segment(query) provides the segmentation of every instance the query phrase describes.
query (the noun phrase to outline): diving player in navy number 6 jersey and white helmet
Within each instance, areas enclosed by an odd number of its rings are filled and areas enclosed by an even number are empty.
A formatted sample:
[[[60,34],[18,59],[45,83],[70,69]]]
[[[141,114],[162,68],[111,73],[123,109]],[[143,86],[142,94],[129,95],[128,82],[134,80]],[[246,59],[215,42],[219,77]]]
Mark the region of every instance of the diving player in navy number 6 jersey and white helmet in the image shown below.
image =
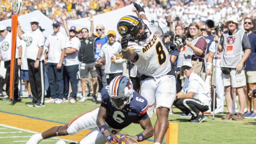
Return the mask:
[[[32,135],[26,144],[37,144],[43,139],[74,135],[82,130],[94,128],[82,138],[79,144],[115,144],[118,134],[131,123],[139,123],[143,128],[133,138],[142,141],[153,136],[153,127],[147,114],[148,102],[133,90],[132,81],[126,76],[117,76],[109,86],[101,90],[102,103],[99,108],[84,113],[65,126],[56,126],[43,133]],[[59,140],[59,143],[65,143]],[[59,144],[58,143],[58,144]]]

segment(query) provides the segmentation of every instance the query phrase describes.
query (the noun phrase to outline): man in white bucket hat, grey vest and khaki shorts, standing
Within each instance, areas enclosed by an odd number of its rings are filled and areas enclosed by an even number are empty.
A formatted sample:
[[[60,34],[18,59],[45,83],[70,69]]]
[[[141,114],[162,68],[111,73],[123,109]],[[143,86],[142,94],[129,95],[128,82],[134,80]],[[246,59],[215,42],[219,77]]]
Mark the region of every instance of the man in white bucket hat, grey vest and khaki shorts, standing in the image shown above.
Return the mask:
[[[235,16],[229,16],[226,20],[228,31],[225,31],[218,43],[218,51],[222,53],[220,66],[223,73],[223,84],[228,113],[222,119],[243,120],[245,108],[245,93],[243,86],[246,85],[244,62],[251,52],[250,41],[247,32],[238,29],[239,22]],[[215,36],[216,39],[218,36]],[[215,39],[215,38],[214,38]],[[243,51],[244,54],[243,54]],[[233,117],[233,97],[230,94],[231,86],[236,88],[239,97],[239,113]]]

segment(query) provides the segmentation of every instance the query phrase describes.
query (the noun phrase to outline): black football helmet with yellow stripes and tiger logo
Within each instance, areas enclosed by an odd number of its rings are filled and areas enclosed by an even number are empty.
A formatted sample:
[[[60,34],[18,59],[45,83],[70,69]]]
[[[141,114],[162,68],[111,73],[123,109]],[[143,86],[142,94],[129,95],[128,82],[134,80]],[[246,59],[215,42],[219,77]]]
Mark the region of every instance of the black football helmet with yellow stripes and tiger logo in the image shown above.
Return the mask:
[[[123,37],[127,34],[132,35],[133,39],[144,40],[147,38],[147,33],[145,30],[148,27],[142,21],[142,19],[135,16],[124,16],[117,23],[118,33]],[[143,32],[140,31],[143,29]]]

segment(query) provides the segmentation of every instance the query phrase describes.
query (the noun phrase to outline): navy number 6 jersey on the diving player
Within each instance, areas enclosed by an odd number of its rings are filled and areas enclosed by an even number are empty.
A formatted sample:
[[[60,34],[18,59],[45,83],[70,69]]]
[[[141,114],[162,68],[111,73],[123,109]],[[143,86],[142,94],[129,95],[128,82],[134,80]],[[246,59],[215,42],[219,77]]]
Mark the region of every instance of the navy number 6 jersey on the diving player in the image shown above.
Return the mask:
[[[138,123],[138,120],[148,117],[148,101],[133,91],[133,98],[129,105],[124,106],[122,110],[112,106],[108,96],[108,86],[101,90],[102,103],[101,106],[109,110],[108,116],[105,119],[106,123],[115,129],[122,129],[129,126],[131,123]]]

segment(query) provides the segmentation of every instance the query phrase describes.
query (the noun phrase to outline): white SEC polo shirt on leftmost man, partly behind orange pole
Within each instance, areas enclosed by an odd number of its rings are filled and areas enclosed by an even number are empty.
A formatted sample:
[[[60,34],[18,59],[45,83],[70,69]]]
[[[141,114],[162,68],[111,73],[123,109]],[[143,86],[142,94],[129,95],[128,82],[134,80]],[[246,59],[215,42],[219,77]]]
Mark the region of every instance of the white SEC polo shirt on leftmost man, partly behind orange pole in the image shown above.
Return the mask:
[[[12,34],[7,33],[6,37],[0,37],[0,53],[1,60],[8,61],[11,60],[11,46],[12,46]],[[18,58],[18,47],[21,46],[20,38],[16,38],[16,52],[15,58]]]

